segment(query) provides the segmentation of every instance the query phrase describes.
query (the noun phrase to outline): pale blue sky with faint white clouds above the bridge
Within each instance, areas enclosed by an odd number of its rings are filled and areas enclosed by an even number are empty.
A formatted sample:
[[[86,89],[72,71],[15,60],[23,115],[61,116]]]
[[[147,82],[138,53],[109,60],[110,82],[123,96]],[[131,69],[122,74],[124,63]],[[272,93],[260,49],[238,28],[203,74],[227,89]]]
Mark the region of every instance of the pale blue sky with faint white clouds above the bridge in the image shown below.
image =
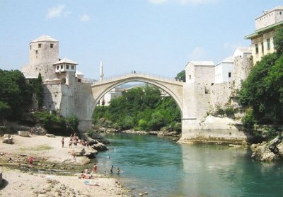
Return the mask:
[[[28,64],[29,43],[59,40],[59,57],[89,79],[144,72],[175,77],[187,62],[232,56],[250,46],[262,11],[283,0],[0,0],[0,69]]]

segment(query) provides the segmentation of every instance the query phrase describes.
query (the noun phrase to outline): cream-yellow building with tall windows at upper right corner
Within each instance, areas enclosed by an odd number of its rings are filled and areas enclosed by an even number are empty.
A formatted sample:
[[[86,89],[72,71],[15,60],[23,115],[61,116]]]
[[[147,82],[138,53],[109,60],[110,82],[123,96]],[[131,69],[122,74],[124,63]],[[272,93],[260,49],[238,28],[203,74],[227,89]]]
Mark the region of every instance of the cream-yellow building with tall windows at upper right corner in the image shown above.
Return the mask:
[[[283,24],[283,6],[271,11],[263,11],[262,16],[255,18],[255,32],[246,35],[251,40],[253,64],[259,62],[264,55],[275,52],[275,28]]]

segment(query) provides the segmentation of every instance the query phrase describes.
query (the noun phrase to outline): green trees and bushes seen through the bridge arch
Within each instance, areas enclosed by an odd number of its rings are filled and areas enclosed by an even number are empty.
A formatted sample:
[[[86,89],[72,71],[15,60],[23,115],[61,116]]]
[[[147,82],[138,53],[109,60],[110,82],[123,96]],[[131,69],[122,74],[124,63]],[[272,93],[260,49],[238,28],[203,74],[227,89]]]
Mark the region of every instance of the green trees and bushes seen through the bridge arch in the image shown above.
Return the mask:
[[[171,98],[161,99],[156,86],[146,85],[125,91],[112,99],[110,106],[98,106],[93,124],[106,118],[117,129],[158,130],[172,122],[180,122],[180,110]]]

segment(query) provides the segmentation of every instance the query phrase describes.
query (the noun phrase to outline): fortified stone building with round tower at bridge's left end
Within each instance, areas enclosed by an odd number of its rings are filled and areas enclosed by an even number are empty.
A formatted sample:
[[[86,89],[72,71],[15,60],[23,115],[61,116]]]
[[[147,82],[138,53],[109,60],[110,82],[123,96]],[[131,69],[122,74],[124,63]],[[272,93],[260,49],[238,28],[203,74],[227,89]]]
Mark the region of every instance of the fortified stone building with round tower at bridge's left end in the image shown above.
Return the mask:
[[[47,111],[56,111],[64,117],[76,115],[79,130],[90,128],[87,113],[94,103],[91,95],[92,80],[83,79],[77,63],[67,58],[59,59],[59,41],[42,35],[30,42],[28,65],[22,69],[25,78],[42,75],[43,105]]]

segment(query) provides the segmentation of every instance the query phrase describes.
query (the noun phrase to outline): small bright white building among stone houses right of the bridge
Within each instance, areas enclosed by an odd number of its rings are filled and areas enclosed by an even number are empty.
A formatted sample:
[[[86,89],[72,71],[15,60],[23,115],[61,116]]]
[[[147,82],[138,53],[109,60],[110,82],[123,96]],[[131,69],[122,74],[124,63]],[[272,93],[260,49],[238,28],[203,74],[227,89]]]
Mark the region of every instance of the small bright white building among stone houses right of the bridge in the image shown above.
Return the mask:
[[[232,73],[234,69],[234,58],[227,57],[215,67],[215,84],[231,82],[233,80]]]

